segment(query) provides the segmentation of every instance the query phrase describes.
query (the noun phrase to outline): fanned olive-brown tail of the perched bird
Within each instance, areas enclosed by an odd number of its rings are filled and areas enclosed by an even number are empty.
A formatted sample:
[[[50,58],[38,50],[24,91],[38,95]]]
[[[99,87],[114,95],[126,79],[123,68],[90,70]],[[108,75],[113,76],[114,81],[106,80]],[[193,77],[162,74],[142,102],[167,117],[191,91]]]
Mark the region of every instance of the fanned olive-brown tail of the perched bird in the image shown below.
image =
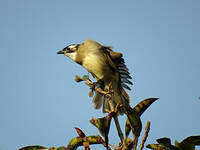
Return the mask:
[[[114,92],[111,94],[111,97],[107,97],[98,92],[95,92],[95,96],[93,98],[94,108],[99,109],[103,105],[103,113],[106,113],[115,111],[117,105],[129,105],[129,95],[122,87],[118,90],[113,90]],[[119,114],[124,114],[123,109],[119,110]]]

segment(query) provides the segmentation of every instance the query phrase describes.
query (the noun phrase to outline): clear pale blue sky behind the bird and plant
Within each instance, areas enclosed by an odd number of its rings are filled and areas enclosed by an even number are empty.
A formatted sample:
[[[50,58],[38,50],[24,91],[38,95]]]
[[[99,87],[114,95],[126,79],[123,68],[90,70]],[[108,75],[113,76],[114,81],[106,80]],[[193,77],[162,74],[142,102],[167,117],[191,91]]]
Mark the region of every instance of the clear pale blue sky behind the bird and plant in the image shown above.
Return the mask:
[[[77,136],[74,127],[98,133],[89,120],[103,114],[93,109],[88,87],[74,81],[87,71],[56,55],[88,38],[124,54],[135,83],[132,106],[160,97],[142,116],[143,126],[151,121],[146,144],[200,135],[200,1],[6,0],[0,1],[1,150],[67,145]],[[114,122],[110,137],[117,145]]]

